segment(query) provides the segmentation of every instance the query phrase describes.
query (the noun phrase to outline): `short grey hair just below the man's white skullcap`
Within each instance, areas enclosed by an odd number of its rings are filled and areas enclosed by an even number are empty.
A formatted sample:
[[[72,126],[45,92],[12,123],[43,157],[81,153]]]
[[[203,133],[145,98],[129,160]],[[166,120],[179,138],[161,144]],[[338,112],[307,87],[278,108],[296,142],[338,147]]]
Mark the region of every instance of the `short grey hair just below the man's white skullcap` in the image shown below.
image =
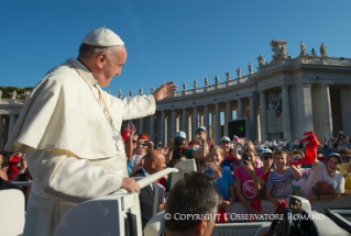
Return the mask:
[[[122,46],[101,47],[88,44],[80,44],[78,58],[91,59],[98,55],[106,53],[109,58],[121,50]]]

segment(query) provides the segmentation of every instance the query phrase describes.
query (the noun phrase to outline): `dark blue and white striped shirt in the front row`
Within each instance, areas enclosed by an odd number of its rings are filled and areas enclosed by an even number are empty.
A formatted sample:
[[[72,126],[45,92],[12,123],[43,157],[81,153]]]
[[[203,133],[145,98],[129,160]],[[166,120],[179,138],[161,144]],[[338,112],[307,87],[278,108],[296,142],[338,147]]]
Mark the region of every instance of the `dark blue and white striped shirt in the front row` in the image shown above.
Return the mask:
[[[283,175],[279,175],[274,170],[268,176],[266,189],[272,189],[272,195],[275,199],[287,198],[294,193],[292,182],[292,168],[287,168]]]

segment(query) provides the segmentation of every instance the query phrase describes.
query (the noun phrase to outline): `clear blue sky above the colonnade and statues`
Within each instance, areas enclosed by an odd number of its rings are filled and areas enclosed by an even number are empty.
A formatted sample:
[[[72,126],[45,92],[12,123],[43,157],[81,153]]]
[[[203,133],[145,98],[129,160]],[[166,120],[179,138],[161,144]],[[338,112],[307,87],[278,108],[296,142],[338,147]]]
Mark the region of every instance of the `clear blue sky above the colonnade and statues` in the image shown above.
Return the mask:
[[[226,71],[254,71],[261,53],[271,61],[272,38],[287,41],[292,57],[304,41],[329,56],[351,57],[349,0],[0,0],[0,86],[31,87],[45,72],[77,56],[94,29],[114,31],[124,41],[128,60],[107,89],[123,95],[140,87],[150,92],[164,81],[182,90],[195,79],[215,82]]]

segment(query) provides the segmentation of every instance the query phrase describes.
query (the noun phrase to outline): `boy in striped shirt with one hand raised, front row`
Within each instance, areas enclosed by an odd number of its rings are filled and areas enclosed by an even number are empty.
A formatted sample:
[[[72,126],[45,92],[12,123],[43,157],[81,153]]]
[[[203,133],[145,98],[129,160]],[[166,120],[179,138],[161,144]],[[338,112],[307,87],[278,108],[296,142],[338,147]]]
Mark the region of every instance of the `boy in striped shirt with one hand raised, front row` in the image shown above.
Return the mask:
[[[276,206],[282,205],[282,199],[294,194],[292,181],[293,178],[301,178],[301,172],[295,167],[286,167],[293,160],[286,162],[286,153],[277,150],[273,155],[276,170],[270,173],[266,183],[265,198]]]

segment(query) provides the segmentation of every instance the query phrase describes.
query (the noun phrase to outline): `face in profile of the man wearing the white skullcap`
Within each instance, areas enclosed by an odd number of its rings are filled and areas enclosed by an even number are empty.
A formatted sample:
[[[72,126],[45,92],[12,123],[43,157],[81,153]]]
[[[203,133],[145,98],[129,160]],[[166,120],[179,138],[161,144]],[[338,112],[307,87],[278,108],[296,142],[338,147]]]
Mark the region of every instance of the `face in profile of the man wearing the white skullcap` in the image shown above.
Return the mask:
[[[118,53],[106,58],[106,61],[102,67],[102,75],[96,78],[100,87],[108,87],[112,80],[113,76],[120,76],[122,72],[122,66],[127,60],[127,50],[122,46],[122,49],[119,49]]]

